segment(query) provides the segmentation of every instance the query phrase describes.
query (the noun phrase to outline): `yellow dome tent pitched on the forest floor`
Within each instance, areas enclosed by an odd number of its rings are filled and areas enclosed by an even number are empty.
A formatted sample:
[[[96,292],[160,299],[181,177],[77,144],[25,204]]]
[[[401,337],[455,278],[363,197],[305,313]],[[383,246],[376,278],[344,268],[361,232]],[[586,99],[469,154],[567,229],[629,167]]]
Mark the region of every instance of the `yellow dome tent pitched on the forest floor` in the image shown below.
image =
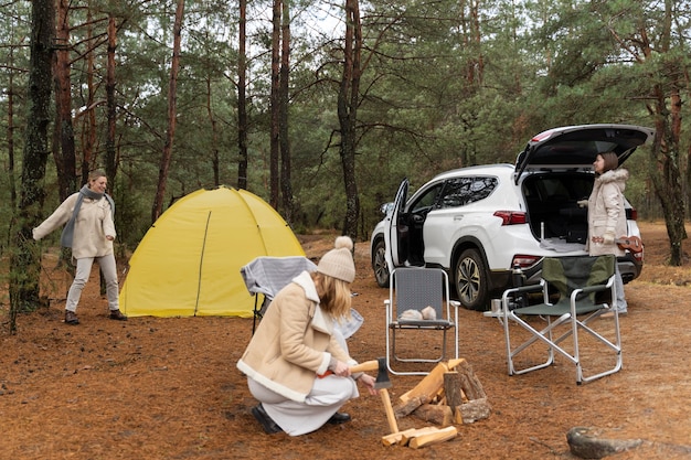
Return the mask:
[[[176,202],[129,260],[120,291],[128,317],[251,318],[240,268],[259,256],[305,256],[283,217],[261,197],[221,186]]]

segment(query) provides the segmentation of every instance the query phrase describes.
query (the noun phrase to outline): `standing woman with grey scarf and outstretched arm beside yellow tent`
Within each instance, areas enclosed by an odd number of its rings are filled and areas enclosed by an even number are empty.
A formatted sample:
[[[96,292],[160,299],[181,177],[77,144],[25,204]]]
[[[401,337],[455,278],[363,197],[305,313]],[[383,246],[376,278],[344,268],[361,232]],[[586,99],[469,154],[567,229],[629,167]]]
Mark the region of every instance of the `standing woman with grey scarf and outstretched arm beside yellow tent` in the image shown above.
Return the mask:
[[[117,267],[113,254],[113,240],[116,236],[113,223],[115,204],[106,194],[107,185],[108,179],[103,171],[92,171],[88,183],[70,195],[49,218],[33,229],[33,238],[39,240],[66,224],[60,243],[63,247],[72,248],[72,258],[76,259],[76,272],[67,293],[65,324],[79,323],[76,315],[77,303],[92,272],[94,259],[98,261],[106,280],[109,318],[127,321],[118,304]]]

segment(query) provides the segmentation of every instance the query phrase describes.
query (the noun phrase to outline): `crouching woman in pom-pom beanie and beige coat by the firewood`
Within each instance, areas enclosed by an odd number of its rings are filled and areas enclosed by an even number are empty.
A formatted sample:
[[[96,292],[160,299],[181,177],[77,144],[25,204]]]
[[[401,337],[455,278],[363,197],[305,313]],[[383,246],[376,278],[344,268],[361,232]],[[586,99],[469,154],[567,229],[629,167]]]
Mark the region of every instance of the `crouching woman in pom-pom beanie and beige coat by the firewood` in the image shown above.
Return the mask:
[[[334,329],[334,320],[350,314],[352,248],[349,237],[337,238],[317,271],[304,271],[281,289],[237,362],[259,400],[252,414],[267,434],[299,436],[349,421],[338,410],[359,396],[355,381],[376,394],[372,376],[351,375],[357,362]]]

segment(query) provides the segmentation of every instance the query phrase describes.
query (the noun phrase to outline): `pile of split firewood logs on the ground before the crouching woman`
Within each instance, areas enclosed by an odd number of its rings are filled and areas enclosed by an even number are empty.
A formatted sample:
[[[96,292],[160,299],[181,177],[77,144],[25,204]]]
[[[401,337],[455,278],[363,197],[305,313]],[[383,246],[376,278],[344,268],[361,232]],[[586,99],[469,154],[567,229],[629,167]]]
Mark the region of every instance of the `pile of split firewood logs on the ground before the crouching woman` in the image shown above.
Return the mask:
[[[458,359],[437,364],[413,389],[398,397],[392,410],[396,419],[412,415],[433,426],[398,431],[396,424],[390,424],[395,432],[384,436],[382,443],[417,449],[454,439],[458,435],[456,425],[488,418],[491,406],[470,364]]]

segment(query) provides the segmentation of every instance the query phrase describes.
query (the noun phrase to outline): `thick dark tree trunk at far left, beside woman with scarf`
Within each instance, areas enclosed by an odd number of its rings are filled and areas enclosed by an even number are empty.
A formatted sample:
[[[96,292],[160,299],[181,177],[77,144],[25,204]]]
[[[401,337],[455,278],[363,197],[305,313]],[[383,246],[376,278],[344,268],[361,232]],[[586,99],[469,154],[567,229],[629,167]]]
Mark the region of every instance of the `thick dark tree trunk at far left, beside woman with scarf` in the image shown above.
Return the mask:
[[[39,304],[41,257],[32,243],[31,229],[41,221],[45,199],[41,186],[47,162],[47,130],[52,85],[53,0],[31,2],[31,58],[29,64],[28,117],[24,131],[21,196],[18,229],[10,256],[10,332],[17,328],[17,313]]]

